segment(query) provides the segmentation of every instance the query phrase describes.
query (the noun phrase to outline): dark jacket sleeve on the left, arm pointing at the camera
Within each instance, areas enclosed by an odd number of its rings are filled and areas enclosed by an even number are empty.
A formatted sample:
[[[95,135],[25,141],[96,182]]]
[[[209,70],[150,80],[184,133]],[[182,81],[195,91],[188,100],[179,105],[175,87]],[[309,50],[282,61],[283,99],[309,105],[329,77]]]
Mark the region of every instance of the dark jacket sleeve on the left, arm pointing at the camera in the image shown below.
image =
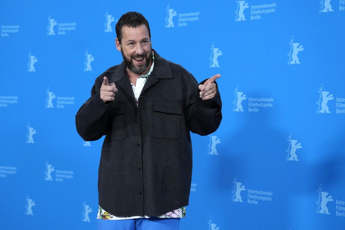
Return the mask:
[[[76,114],[77,132],[85,141],[95,141],[107,133],[111,103],[100,98],[103,75],[95,80],[91,97],[80,107]]]

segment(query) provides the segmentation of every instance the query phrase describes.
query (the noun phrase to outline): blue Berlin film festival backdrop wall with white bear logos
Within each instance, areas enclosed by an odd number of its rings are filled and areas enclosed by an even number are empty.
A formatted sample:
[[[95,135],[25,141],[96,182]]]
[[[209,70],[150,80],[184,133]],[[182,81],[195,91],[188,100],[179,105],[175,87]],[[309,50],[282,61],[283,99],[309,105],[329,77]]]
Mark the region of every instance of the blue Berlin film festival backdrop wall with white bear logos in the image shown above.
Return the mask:
[[[223,120],[192,134],[181,229],[344,229],[345,1],[2,1],[0,229],[96,229],[102,140],[75,114],[122,61],[115,24],[138,11],[152,48],[198,81]]]

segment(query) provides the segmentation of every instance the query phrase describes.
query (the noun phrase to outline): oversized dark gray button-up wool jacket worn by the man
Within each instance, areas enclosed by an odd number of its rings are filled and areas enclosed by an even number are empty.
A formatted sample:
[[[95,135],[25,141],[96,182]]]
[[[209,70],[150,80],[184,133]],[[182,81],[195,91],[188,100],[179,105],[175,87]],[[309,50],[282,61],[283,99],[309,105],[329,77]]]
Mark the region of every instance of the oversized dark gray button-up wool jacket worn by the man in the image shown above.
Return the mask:
[[[100,99],[103,77],[118,89],[115,101]],[[207,135],[221,121],[219,91],[203,101],[198,83],[183,67],[160,57],[137,107],[125,63],[96,80],[76,115],[85,141],[106,135],[98,171],[99,205],[115,216],[158,216],[188,205],[190,132]]]

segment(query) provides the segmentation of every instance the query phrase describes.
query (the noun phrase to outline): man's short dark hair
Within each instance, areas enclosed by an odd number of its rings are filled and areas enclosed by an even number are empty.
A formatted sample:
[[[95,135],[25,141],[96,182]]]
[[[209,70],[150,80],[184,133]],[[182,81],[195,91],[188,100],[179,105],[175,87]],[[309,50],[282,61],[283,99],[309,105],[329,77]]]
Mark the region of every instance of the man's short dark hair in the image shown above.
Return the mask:
[[[116,26],[115,26],[117,40],[121,43],[122,27],[128,26],[131,28],[137,28],[138,26],[141,26],[141,25],[145,25],[147,27],[147,30],[149,31],[149,37],[151,39],[149,23],[141,13],[131,11],[131,12],[122,14],[121,18],[119,19],[119,21],[116,23]]]

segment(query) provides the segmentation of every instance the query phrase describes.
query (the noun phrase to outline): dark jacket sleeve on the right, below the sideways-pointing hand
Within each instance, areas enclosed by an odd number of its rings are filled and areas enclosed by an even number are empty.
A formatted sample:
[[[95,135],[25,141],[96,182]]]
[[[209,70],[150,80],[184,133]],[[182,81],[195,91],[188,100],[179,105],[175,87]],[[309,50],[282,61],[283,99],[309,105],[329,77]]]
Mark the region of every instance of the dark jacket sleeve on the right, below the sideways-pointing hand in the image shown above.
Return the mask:
[[[186,125],[191,132],[206,136],[218,129],[222,118],[218,85],[216,96],[209,100],[203,100],[200,98],[199,84],[192,74],[189,73],[189,76],[185,90]]]

